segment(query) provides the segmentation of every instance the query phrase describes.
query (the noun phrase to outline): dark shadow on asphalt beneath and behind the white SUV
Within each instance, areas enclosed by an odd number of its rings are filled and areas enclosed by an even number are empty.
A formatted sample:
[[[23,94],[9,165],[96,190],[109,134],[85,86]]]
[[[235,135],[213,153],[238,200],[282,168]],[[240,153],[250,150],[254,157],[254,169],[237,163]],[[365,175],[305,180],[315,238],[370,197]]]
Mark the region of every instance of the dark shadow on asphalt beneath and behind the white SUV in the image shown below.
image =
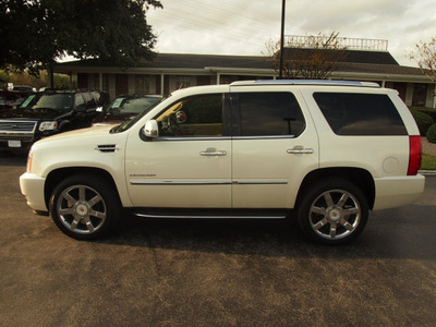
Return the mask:
[[[414,206],[407,208],[416,210]],[[420,206],[420,210],[432,213],[435,207]],[[294,219],[158,220],[130,216],[124,217],[122,226],[112,237],[98,242],[271,257],[436,259],[432,250],[434,245],[431,245],[435,241],[433,234],[427,232],[427,225],[435,230],[435,222],[428,219],[431,216],[423,215],[422,218],[413,218],[413,221],[401,217],[407,217],[401,209],[385,210],[383,216],[373,215],[356,240],[339,246],[308,241]]]

